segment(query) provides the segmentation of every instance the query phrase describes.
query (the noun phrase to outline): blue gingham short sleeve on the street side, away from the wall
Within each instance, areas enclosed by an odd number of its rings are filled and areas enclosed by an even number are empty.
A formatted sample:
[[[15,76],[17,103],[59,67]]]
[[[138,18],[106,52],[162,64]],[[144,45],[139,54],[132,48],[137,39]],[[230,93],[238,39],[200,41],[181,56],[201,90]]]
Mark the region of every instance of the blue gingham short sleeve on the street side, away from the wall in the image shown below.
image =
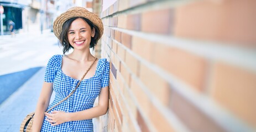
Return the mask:
[[[49,59],[46,66],[44,81],[47,83],[53,83],[56,73],[61,68],[62,56],[60,54],[54,55]]]

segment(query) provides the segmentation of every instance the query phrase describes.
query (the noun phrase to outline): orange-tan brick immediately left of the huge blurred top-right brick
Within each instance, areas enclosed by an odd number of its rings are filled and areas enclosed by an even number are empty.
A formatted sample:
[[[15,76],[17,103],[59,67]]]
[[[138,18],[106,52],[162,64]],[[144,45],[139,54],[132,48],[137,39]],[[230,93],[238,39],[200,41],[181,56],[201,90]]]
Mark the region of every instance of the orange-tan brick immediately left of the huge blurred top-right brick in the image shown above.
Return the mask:
[[[142,13],[142,31],[154,32],[156,34],[169,34],[171,21],[171,10],[152,10]]]

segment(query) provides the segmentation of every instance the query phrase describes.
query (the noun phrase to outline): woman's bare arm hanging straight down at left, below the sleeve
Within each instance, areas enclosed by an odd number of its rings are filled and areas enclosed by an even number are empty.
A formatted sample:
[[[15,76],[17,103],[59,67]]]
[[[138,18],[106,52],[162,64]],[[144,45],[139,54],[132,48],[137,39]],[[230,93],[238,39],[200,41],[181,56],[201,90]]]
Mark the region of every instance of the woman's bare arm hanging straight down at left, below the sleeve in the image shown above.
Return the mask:
[[[38,103],[35,109],[34,121],[32,126],[33,132],[41,130],[41,126],[44,121],[44,112],[49,106],[52,93],[53,83],[46,83],[44,81],[43,87],[41,89],[41,94],[39,96]]]

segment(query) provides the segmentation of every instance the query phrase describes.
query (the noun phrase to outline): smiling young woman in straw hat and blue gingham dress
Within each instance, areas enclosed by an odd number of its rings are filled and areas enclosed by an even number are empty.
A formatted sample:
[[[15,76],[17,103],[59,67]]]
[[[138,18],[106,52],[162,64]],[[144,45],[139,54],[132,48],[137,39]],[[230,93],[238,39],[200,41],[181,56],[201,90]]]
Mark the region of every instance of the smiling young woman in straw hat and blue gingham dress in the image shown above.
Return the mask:
[[[54,34],[63,46],[64,55],[55,55],[48,62],[32,129],[93,131],[92,118],[102,116],[108,108],[109,63],[90,53],[103,34],[102,21],[85,8],[74,7],[56,18]],[[65,55],[71,48],[74,50]],[[90,65],[74,94],[46,113],[76,88]],[[55,98],[49,106],[53,90]],[[98,106],[93,107],[97,96]]]

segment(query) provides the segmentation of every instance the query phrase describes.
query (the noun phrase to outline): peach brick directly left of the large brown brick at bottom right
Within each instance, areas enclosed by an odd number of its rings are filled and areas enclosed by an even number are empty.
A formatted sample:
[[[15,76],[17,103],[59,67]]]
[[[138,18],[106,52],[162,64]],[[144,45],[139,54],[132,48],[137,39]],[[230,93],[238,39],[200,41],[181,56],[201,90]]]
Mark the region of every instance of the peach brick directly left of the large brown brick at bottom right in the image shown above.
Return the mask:
[[[139,78],[148,87],[149,91],[164,105],[168,104],[170,89],[168,87],[168,83],[163,78],[153,70],[149,69],[145,64],[140,65]]]

